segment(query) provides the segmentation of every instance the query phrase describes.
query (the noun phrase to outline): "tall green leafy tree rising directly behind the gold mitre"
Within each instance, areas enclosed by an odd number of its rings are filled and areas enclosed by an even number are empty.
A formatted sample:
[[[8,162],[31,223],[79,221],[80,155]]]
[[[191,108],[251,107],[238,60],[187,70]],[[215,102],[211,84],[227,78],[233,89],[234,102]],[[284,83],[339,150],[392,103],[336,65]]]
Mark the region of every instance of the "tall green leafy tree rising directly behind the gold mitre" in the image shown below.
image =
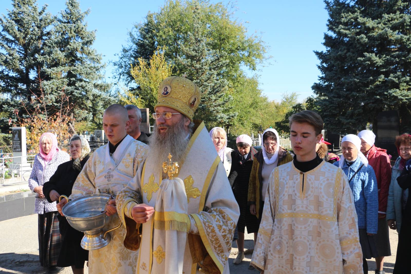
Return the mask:
[[[164,57],[173,65],[173,75],[186,76],[201,88],[202,104],[196,118],[205,120],[207,127],[233,124],[238,109],[234,101],[240,100],[242,89],[233,90],[245,77],[242,68],[255,70],[267,59],[261,37],[247,35],[245,26],[233,19],[222,3],[169,0],[158,12],[148,13],[143,23],[134,25],[129,44],[114,62],[118,77],[130,92],[141,95],[138,83],[133,83],[130,63],[136,67],[139,58],[148,62],[157,47],[165,48]],[[261,93],[258,85],[254,92]]]

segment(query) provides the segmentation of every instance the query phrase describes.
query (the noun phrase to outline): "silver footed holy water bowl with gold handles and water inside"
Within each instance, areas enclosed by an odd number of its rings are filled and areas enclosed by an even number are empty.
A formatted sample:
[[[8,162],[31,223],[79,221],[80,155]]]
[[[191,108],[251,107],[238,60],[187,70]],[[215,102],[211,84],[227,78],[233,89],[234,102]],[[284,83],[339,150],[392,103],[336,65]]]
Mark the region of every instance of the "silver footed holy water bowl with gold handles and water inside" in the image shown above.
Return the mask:
[[[105,207],[111,196],[109,194],[90,194],[69,201],[63,208],[62,213],[70,226],[84,232],[81,247],[85,250],[100,249],[110,243],[108,234],[121,226],[107,230],[103,228],[109,222]]]

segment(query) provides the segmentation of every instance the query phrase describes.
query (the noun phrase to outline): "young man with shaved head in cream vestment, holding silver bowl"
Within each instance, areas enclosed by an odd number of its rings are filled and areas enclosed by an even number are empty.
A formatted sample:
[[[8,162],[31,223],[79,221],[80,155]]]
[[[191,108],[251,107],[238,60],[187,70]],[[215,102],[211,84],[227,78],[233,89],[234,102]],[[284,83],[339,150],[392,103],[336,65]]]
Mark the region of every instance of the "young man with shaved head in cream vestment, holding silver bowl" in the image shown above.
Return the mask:
[[[92,193],[109,193],[115,196],[136,175],[140,163],[147,154],[148,146],[127,135],[128,125],[127,110],[124,106],[114,104],[104,111],[103,128],[109,143],[99,147],[90,156],[74,182],[70,200]],[[111,200],[110,205],[106,207],[107,215],[112,216],[104,230],[115,228],[120,224],[114,201]],[[67,200],[63,199],[59,204],[60,208],[65,203]],[[138,253],[123,246],[124,233],[125,229],[121,226],[109,233],[111,242],[107,246],[90,250],[88,256],[90,274],[136,271]]]

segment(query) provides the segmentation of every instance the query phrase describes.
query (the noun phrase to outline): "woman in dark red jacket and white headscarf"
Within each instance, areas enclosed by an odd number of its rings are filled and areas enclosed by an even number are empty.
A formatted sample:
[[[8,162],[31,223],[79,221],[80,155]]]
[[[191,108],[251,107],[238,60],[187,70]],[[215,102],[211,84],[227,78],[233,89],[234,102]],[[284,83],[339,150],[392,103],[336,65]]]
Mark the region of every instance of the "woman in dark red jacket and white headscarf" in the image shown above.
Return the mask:
[[[387,150],[374,145],[375,135],[370,130],[360,131],[361,152],[367,157],[377,178],[378,185],[378,232],[374,235],[378,257],[375,258],[376,274],[383,274],[384,257],[391,256],[390,236],[386,220],[388,189],[391,182],[391,164]]]

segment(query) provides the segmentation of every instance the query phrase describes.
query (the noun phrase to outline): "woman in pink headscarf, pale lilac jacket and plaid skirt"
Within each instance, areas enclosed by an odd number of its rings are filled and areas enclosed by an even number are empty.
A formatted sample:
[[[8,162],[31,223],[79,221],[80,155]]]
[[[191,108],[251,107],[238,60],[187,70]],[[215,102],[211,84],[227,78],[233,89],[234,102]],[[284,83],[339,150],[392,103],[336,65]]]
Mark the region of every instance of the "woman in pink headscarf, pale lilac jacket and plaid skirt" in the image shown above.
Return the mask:
[[[40,137],[40,152],[36,155],[28,186],[37,193],[35,213],[39,214],[39,259],[40,265],[48,267],[49,273],[57,273],[56,266],[60,252],[60,230],[56,203],[49,203],[43,193],[43,184],[55,173],[57,167],[69,161],[70,157],[57,146],[57,138],[50,132]]]

